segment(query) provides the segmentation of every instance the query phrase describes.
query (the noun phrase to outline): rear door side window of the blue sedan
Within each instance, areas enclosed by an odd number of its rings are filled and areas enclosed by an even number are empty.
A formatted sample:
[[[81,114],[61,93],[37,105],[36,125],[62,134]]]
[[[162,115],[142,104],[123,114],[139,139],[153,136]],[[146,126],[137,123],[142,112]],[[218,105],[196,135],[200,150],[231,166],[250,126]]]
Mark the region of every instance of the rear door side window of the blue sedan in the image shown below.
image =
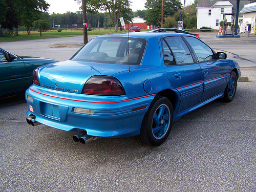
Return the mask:
[[[165,37],[164,40],[172,50],[178,65],[194,63],[193,57],[180,36]]]

